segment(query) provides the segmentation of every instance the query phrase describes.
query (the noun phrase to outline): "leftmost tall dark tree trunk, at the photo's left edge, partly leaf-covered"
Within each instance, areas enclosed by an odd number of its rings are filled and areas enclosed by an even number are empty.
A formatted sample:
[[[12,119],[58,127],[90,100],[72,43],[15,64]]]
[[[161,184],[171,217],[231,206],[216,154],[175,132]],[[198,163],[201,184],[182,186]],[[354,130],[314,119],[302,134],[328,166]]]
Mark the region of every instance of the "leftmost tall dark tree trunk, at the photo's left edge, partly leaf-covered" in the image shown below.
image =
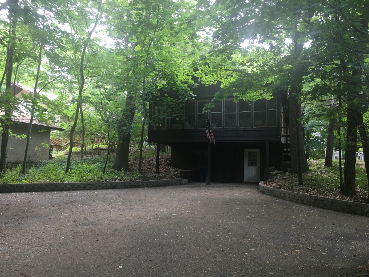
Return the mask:
[[[17,21],[13,20],[11,24],[11,39],[9,45],[8,57],[9,61],[6,69],[6,85],[5,85],[5,93],[11,94],[10,86],[11,86],[11,76],[13,74],[13,54],[14,54],[14,43],[15,43],[15,28],[17,27]],[[8,103],[10,105],[10,103]],[[1,148],[0,148],[0,173],[5,170],[6,166],[6,157],[7,157],[7,148],[8,148],[8,139],[9,139],[9,129],[10,125],[7,124],[11,121],[11,108],[8,106],[5,109],[4,121],[1,122],[1,126],[3,127],[3,133],[1,133]]]

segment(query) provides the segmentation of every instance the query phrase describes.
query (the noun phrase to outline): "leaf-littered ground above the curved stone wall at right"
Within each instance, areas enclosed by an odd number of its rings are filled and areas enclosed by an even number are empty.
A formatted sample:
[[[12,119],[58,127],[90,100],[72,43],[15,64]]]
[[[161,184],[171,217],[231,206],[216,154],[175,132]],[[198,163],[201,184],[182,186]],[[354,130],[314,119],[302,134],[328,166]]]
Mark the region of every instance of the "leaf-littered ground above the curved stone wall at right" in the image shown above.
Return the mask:
[[[367,203],[368,179],[363,161],[356,161],[356,195],[350,197],[339,193],[338,161],[333,161],[333,167],[325,167],[324,160],[313,160],[308,163],[309,170],[303,174],[303,187],[297,186],[297,174],[283,171],[271,172],[272,177],[264,184],[268,186],[279,185],[288,191]],[[344,160],[342,160],[342,167],[344,167]]]

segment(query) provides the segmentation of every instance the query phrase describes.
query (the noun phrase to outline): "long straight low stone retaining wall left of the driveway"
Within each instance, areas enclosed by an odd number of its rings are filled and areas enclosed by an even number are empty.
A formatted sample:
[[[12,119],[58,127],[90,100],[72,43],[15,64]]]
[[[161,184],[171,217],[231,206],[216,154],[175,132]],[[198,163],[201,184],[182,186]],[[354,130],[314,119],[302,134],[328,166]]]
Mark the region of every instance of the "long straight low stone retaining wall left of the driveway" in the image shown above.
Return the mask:
[[[149,181],[117,181],[117,182],[80,182],[80,183],[37,183],[37,184],[4,184],[0,185],[2,192],[32,192],[32,191],[76,191],[84,189],[117,189],[162,187],[187,184],[187,179],[166,179]]]

